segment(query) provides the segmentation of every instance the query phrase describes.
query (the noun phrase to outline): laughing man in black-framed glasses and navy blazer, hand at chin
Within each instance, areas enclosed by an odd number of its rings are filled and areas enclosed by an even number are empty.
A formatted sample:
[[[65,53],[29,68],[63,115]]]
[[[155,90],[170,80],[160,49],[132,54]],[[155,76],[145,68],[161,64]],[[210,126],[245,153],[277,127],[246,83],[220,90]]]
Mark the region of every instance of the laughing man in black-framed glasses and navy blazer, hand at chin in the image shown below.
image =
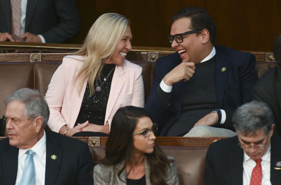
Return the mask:
[[[145,109],[160,136],[234,136],[234,110],[252,100],[258,80],[253,54],[214,46],[216,25],[199,7],[172,17],[168,41],[177,52],[159,58]]]

